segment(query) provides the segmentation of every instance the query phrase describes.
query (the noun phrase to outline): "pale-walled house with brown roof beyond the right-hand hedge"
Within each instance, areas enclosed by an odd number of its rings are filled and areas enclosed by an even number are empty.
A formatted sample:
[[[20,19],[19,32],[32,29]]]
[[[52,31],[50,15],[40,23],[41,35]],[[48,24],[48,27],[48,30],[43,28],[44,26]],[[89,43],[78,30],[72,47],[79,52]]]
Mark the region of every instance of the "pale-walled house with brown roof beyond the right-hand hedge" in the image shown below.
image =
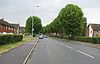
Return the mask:
[[[100,24],[89,24],[87,27],[86,36],[100,37]]]

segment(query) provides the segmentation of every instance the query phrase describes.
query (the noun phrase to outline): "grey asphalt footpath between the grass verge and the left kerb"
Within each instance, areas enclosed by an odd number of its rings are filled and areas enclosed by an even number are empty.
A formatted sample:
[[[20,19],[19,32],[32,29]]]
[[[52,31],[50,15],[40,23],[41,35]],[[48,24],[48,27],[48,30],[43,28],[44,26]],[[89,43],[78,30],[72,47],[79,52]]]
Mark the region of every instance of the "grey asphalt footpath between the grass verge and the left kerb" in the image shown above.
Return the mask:
[[[31,48],[36,44],[36,40],[32,40],[29,43],[0,54],[0,64],[23,64]]]

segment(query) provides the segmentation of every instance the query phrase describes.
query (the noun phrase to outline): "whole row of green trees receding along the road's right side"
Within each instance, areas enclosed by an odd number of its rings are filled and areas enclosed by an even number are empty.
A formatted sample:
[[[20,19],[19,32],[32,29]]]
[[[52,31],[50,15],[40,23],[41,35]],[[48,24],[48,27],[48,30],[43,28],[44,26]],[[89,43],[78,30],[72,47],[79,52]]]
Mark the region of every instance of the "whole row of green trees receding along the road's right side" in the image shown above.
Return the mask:
[[[61,9],[58,16],[46,28],[48,33],[81,36],[85,34],[86,18],[80,7],[68,4]]]

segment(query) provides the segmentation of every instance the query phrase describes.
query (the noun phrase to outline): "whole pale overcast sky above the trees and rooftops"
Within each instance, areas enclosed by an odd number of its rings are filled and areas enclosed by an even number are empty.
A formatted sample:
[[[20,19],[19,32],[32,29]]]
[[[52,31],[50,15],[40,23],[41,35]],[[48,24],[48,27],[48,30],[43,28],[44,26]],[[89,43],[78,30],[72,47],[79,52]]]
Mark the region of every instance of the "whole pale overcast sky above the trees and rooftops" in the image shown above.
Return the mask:
[[[0,18],[25,26],[29,16],[38,16],[46,26],[67,4],[78,5],[88,24],[100,24],[100,0],[0,0]]]

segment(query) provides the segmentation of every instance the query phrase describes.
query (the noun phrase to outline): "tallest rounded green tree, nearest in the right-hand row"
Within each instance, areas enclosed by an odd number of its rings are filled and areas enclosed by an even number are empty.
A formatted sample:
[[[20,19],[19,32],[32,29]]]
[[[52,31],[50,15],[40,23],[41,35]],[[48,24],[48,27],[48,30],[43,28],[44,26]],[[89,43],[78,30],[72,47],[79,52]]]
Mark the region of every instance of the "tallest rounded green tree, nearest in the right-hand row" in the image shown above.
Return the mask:
[[[60,11],[58,17],[62,21],[64,32],[67,35],[82,35],[85,22],[83,21],[84,17],[81,8],[74,4],[68,4]]]

